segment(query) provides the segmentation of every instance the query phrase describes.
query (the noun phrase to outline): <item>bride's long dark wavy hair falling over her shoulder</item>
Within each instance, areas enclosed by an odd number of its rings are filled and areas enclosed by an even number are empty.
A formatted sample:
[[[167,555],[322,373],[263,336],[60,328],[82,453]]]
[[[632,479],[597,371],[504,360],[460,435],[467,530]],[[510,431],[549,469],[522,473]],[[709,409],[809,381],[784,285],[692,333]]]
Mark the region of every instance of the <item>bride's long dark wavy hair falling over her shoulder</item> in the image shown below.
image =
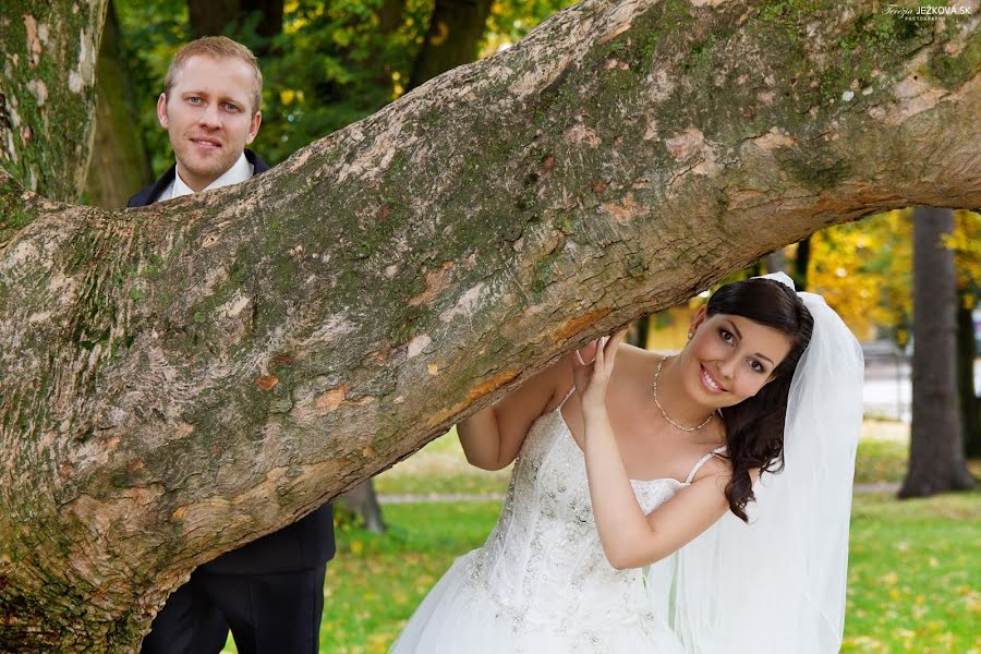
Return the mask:
[[[732,479],[726,486],[729,509],[743,522],[746,506],[755,500],[749,471],[779,472],[784,468],[784,420],[790,380],[801,354],[811,342],[814,318],[790,287],[772,279],[747,279],[728,283],[713,293],[707,315],[728,314],[749,318],[783,331],[790,351],[773,371],[774,379],[738,404],[726,407],[726,456]]]

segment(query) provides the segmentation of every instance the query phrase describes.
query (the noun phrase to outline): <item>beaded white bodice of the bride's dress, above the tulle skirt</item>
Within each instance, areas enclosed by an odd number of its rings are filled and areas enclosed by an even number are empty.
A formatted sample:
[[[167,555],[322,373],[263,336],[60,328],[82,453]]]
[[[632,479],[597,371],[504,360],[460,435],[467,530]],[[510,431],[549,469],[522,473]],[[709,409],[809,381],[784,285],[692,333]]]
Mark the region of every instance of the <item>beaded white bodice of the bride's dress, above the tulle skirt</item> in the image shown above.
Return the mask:
[[[688,485],[674,479],[631,484],[645,513]],[[570,633],[647,616],[642,570],[616,570],[603,552],[585,461],[560,408],[529,429],[500,518],[469,577],[529,627]]]

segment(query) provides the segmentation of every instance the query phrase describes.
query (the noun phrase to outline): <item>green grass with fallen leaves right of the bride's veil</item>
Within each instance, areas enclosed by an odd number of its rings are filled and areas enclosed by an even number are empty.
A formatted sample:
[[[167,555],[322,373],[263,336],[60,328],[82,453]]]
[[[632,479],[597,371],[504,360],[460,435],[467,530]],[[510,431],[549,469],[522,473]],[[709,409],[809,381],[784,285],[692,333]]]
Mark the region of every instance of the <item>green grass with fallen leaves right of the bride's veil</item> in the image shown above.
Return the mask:
[[[981,651],[979,552],[979,492],[856,496],[841,651]]]

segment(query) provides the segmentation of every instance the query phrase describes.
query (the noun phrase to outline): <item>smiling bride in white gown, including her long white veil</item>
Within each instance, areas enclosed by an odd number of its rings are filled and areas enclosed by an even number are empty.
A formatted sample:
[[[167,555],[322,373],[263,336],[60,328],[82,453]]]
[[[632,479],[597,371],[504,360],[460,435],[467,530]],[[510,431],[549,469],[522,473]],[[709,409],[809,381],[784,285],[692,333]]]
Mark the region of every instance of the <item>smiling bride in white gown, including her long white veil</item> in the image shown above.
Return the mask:
[[[457,425],[507,498],[391,652],[837,652],[861,351],[767,277],[677,355],[619,331]]]

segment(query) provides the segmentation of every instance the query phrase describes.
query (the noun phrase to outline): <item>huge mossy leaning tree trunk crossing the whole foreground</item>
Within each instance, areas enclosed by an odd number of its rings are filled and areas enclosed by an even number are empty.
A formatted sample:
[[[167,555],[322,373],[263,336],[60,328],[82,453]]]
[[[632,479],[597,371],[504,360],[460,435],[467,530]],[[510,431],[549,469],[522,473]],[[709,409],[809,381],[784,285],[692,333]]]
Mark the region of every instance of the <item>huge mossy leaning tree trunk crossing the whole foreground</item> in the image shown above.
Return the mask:
[[[50,64],[80,43],[53,26],[101,15],[75,4],[47,10],[47,63],[3,77],[4,107],[36,74],[90,116]],[[141,210],[23,193],[12,166],[0,649],[133,651],[194,567],[570,348],[828,225],[981,207],[977,22],[871,11],[588,0],[261,177]],[[0,49],[24,68],[14,14]],[[84,132],[77,158],[2,147],[71,196]]]

